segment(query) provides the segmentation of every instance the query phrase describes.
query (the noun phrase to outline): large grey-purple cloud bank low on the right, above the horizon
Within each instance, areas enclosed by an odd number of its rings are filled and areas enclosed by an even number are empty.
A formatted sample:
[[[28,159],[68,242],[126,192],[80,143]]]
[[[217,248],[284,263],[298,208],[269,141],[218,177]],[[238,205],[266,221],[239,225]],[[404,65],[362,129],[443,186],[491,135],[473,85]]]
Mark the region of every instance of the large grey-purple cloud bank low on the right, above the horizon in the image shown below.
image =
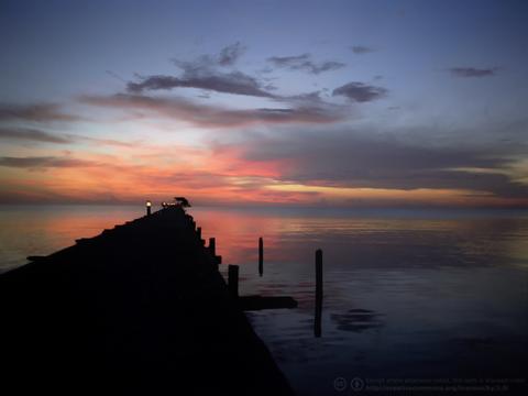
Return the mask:
[[[220,146],[220,150],[224,147]],[[354,130],[288,129],[237,141],[241,161],[278,164],[284,183],[341,188],[460,189],[526,198],[498,147],[424,146]]]

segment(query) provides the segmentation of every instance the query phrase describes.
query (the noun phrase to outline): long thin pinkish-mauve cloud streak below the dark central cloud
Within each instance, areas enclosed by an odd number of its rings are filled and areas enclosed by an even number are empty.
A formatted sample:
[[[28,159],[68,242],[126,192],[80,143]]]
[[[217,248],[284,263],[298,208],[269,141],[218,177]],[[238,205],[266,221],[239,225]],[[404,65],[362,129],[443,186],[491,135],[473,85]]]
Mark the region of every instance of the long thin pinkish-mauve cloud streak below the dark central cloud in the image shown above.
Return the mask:
[[[112,107],[189,122],[202,128],[234,128],[252,124],[332,123],[343,114],[322,107],[299,107],[287,110],[250,109],[229,110],[217,106],[197,105],[184,98],[154,98],[140,95],[85,96],[85,103]]]

